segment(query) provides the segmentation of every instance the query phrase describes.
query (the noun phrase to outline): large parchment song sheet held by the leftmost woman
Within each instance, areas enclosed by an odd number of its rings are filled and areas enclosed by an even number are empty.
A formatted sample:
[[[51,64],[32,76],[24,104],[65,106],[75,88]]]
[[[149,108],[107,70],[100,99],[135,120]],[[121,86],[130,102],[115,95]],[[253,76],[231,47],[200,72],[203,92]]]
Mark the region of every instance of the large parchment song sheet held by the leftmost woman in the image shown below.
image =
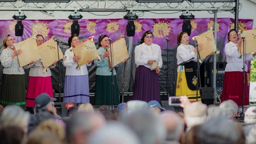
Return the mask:
[[[25,41],[15,44],[15,49],[22,50],[22,53],[17,55],[19,61],[19,67],[28,65],[32,61],[40,59],[39,51],[37,48],[37,42],[35,38],[28,38]]]

